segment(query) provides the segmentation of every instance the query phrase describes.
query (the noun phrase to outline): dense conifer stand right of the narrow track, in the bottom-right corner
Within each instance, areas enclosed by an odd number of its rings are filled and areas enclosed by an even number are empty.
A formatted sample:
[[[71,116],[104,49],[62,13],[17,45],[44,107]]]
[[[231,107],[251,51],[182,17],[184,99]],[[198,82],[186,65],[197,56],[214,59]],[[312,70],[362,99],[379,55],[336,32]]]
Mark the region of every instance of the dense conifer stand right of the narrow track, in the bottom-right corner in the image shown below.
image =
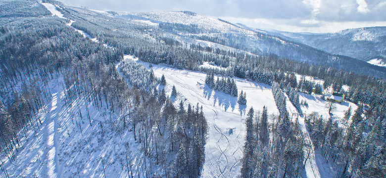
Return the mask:
[[[347,124],[343,128],[331,118],[323,120],[318,113],[309,114],[314,145],[321,150],[327,163],[332,162],[338,168],[338,178],[385,177],[385,121],[378,117],[372,127],[366,128],[363,108],[358,107],[351,119],[350,110],[345,112],[343,119]]]

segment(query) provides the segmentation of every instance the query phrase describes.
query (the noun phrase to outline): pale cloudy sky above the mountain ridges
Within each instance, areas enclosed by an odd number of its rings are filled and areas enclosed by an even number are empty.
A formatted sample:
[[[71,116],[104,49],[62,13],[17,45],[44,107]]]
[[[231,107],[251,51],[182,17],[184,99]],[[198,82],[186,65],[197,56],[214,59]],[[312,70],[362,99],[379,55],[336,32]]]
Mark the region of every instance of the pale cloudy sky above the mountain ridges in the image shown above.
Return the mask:
[[[189,10],[259,29],[337,32],[386,26],[386,0],[60,0],[113,11]]]

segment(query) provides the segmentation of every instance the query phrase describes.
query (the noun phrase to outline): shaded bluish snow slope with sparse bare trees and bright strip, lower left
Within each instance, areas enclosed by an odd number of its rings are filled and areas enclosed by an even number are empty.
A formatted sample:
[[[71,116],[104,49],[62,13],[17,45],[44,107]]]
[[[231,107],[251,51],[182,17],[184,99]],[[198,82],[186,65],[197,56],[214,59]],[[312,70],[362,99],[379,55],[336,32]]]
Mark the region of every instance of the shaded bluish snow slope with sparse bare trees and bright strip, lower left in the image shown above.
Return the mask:
[[[21,140],[24,149],[15,152],[15,161],[1,158],[8,175],[11,178],[92,178],[105,174],[107,178],[125,178],[127,171],[122,170],[122,160],[126,164],[126,154],[132,169],[141,169],[144,160],[148,160],[140,151],[141,145],[135,142],[133,132],[117,133],[108,129],[107,125],[114,124],[110,119],[119,116],[105,107],[95,109],[93,103],[83,97],[71,103],[74,113],[71,116],[70,108],[64,103],[63,85],[61,77],[48,83],[52,94],[38,114],[42,125],[29,126],[27,139]],[[86,117],[88,112],[91,123]],[[144,176],[137,171],[133,174]]]

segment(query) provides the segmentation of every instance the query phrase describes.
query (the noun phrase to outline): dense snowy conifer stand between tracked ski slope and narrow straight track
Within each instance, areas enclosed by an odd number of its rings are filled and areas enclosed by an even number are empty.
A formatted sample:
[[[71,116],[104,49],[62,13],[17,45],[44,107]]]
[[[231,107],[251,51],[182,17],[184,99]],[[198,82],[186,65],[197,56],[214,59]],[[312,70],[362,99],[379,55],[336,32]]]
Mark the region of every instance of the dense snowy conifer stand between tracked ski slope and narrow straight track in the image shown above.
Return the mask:
[[[267,108],[246,118],[246,141],[241,160],[242,178],[291,178],[304,174],[307,146],[298,120],[290,122],[288,112],[272,116],[268,124]]]

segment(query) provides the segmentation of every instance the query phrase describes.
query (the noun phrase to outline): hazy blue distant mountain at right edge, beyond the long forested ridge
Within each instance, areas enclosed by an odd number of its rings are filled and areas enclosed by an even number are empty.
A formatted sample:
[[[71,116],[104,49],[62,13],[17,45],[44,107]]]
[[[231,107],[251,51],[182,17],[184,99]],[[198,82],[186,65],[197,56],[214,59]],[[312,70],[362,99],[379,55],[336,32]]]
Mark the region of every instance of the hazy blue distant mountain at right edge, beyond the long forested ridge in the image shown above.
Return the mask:
[[[291,33],[267,31],[267,33],[305,45],[363,61],[386,59],[386,27],[346,29],[337,33]]]

